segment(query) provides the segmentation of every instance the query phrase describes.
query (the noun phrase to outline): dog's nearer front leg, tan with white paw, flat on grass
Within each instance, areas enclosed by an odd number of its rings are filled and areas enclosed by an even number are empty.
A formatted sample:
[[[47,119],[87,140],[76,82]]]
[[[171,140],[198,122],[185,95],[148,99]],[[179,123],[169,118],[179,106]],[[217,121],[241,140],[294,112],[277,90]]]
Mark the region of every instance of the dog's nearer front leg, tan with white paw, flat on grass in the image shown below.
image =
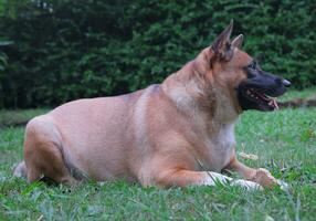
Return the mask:
[[[191,170],[165,170],[158,172],[155,178],[156,185],[162,187],[186,187],[186,186],[215,186],[229,185],[239,186],[246,190],[261,189],[261,186],[247,180],[233,180],[224,175],[212,171],[191,171]]]

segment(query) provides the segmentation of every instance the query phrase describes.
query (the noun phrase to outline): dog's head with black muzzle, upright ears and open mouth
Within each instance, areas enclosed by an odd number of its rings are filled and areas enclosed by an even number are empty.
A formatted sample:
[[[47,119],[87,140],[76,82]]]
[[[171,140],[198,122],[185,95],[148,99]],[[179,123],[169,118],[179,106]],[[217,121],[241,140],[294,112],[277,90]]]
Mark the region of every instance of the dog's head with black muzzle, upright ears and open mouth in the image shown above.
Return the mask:
[[[287,80],[264,72],[257,62],[241,50],[243,35],[230,41],[233,22],[203,50],[200,57],[207,57],[212,78],[230,91],[239,109],[274,110],[274,97],[281,96],[291,85]],[[206,60],[206,59],[204,59]]]

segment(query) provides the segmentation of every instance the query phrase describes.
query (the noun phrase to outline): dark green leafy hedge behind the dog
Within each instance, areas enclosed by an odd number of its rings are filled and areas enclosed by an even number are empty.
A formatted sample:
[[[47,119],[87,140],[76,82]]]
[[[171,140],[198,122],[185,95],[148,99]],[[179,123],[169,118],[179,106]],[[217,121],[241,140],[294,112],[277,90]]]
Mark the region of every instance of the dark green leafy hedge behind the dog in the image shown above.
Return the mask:
[[[263,69],[296,87],[315,85],[315,0],[0,0],[0,40],[13,42],[0,45],[0,107],[159,83],[231,19]]]

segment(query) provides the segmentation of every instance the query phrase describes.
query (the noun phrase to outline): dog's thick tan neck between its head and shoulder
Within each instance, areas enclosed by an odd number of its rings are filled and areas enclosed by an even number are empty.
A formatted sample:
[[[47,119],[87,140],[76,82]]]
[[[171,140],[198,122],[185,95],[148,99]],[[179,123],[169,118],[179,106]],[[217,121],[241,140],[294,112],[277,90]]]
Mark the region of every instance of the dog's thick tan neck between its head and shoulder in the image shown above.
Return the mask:
[[[229,90],[217,85],[211,78],[204,78],[196,66],[191,61],[171,74],[162,83],[162,90],[176,107],[192,119],[203,118],[217,126],[233,124],[240,113]]]

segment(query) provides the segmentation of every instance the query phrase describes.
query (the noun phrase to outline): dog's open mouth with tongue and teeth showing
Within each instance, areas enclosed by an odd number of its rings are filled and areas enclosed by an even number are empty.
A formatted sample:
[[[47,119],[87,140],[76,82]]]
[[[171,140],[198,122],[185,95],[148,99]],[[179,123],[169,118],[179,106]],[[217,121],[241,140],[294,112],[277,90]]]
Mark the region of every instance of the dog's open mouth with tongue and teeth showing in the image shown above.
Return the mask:
[[[274,97],[264,94],[263,90],[247,88],[245,91],[245,96],[247,99],[257,103],[262,108],[278,109],[278,105]]]

